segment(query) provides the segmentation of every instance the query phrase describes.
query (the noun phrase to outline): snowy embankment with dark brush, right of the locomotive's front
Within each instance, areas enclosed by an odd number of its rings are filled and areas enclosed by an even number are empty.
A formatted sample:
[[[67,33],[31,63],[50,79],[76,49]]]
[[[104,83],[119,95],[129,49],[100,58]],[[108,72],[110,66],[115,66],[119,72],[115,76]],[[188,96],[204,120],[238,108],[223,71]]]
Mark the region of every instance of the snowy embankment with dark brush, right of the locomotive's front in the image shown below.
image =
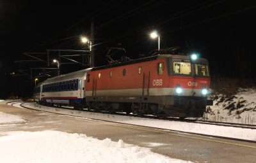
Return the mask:
[[[213,96],[204,120],[256,125],[256,90],[241,89],[235,96]]]

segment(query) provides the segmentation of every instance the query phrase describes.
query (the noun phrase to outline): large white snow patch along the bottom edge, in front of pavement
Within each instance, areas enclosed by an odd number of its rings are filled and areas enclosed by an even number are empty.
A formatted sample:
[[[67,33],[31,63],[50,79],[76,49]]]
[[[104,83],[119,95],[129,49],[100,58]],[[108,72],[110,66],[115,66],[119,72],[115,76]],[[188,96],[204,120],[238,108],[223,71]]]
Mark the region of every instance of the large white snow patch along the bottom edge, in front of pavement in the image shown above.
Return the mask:
[[[190,162],[171,159],[111,139],[60,131],[8,132],[0,137],[0,162]]]

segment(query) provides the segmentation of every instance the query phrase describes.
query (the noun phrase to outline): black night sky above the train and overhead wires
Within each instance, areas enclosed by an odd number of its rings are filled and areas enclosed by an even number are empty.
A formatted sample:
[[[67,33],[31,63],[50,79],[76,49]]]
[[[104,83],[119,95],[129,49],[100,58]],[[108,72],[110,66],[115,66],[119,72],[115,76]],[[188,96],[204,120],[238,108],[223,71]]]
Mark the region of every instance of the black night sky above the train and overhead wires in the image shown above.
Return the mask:
[[[256,76],[256,1],[0,1],[0,98],[12,92],[15,95],[16,90],[19,97],[33,96],[35,77],[43,70],[33,71],[32,79],[10,73],[29,70],[24,72],[30,75],[30,68],[48,67],[47,63],[14,61],[33,59],[25,52],[84,50],[81,37],[90,38],[92,20],[95,66],[108,64],[108,47],[125,48],[127,53],[117,53],[114,59],[122,55],[138,59],[141,53],[149,57],[149,52],[158,48],[157,39],[150,38],[150,33],[156,31],[161,48],[180,46],[180,52],[196,53],[209,60],[211,75]],[[81,53],[61,52],[64,54]],[[51,52],[50,59],[58,59],[57,55]],[[47,55],[38,58],[47,60]],[[71,59],[81,61],[81,57]],[[86,68],[65,64],[61,74]]]

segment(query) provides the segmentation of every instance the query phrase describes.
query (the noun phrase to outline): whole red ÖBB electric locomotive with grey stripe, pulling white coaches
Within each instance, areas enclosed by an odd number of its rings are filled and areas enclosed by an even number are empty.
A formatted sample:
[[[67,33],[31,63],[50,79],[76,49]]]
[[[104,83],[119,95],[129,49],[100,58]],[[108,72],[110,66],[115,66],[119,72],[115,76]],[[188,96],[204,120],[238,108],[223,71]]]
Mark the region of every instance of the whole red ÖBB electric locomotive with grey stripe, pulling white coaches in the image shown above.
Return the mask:
[[[208,61],[174,54],[177,48],[159,50],[142,59],[124,57],[123,62],[107,55],[111,64],[86,74],[83,105],[88,110],[125,111],[139,117],[202,117],[206,106],[213,103],[207,100],[211,81]]]

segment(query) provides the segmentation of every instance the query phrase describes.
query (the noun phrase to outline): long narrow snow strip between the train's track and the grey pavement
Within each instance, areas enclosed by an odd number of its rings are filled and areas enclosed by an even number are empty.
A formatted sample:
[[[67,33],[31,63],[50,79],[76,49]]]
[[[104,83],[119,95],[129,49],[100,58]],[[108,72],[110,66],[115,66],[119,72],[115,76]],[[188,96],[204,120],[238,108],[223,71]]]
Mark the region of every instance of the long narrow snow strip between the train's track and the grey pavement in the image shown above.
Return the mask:
[[[29,108],[34,108],[36,110],[50,111],[53,113],[63,113],[65,115],[73,115],[78,117],[256,141],[256,129],[242,129],[237,127],[225,127],[219,125],[195,124],[188,122],[156,120],[150,118],[128,117],[125,115],[109,115],[88,111],[66,110],[61,108],[41,106],[35,103],[24,104],[24,106],[28,106]]]

